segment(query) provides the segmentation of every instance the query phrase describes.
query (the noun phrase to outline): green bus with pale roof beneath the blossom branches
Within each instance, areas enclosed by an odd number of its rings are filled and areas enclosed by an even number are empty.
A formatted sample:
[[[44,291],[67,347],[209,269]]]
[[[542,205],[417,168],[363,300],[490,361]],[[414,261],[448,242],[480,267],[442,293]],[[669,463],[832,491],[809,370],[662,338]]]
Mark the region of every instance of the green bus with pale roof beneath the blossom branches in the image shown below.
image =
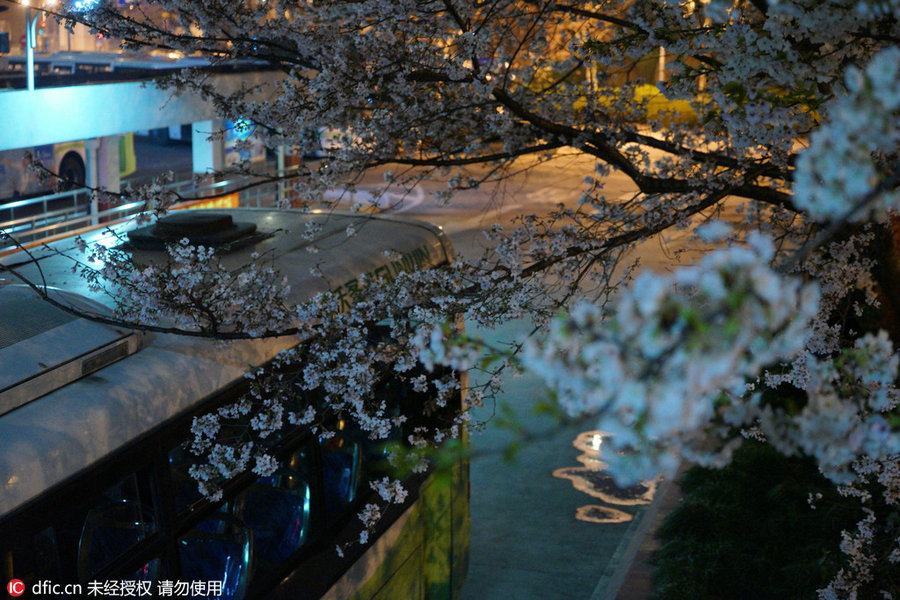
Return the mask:
[[[239,244],[229,239],[227,260],[273,256],[293,302],[350,289],[365,273],[440,268],[453,255],[438,228],[416,221],[265,209],[215,213],[228,227],[251,232]],[[299,234],[310,223],[320,228],[316,254]],[[351,224],[361,231],[348,238]],[[119,224],[83,238],[118,246],[133,227]],[[62,240],[34,250],[37,264],[22,253],[2,264],[33,281],[43,277],[76,306],[102,304],[58,253],[73,249],[73,240]],[[133,251],[142,262],[161,252]],[[325,277],[312,277],[313,266]],[[329,439],[287,427],[272,450],[279,469],[269,477],[236,477],[217,502],[202,497],[187,475],[196,460],[187,450],[193,419],[234,402],[247,391],[248,366],[296,343],[287,336],[223,346],[101,325],[41,301],[0,271],[0,579],[8,594],[454,598],[469,545],[463,452],[447,472],[407,477],[405,503],[387,510],[366,544],[348,542],[359,540],[357,514],[373,501],[368,481],[387,467],[383,446],[349,425],[338,424]],[[377,393],[405,410],[427,400],[388,383]],[[456,401],[459,408],[462,395]],[[344,556],[336,546],[346,548]]]

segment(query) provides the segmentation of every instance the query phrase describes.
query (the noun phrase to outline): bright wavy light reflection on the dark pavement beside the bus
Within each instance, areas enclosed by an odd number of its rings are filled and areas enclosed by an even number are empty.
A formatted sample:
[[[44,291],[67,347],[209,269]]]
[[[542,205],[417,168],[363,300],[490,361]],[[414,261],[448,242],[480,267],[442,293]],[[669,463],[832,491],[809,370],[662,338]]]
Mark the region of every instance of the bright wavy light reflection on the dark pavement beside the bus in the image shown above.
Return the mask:
[[[581,467],[563,467],[553,471],[553,476],[569,479],[572,486],[585,494],[598,498],[606,504],[617,506],[639,506],[649,504],[656,493],[659,478],[642,481],[629,487],[619,487],[612,476],[604,472],[606,463],[600,460],[603,438],[608,434],[602,431],[585,431],[578,434],[572,442],[581,454],[576,457]],[[591,523],[625,523],[633,516],[618,508],[589,504],[575,512],[575,518]]]

